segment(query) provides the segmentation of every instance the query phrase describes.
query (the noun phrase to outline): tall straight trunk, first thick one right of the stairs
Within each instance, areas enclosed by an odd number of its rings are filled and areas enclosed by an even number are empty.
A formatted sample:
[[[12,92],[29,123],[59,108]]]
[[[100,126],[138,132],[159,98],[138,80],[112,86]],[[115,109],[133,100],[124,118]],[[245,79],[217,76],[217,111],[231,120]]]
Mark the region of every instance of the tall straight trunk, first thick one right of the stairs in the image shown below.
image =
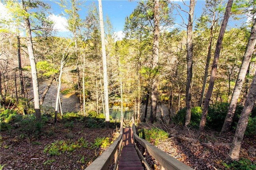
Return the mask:
[[[159,55],[159,0],[154,0],[154,38],[153,38],[153,63],[152,69],[158,70],[158,55]],[[151,93],[151,110],[150,121],[153,123],[156,120],[157,98],[158,98],[158,80],[156,75],[152,79]]]

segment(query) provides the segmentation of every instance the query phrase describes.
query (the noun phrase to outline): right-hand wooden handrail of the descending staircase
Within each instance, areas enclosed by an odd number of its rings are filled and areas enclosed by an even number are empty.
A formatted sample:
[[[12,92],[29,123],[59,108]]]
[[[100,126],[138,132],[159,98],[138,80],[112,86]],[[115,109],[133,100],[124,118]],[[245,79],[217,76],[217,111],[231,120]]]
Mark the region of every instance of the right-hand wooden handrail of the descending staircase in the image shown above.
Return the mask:
[[[139,142],[148,151],[148,153],[156,159],[157,162],[159,162],[160,170],[192,170],[192,168],[186,164],[180,162],[166,152],[158,149],[156,146],[152,145],[145,139],[140,138],[136,134],[134,117],[132,117],[132,130],[134,139]]]

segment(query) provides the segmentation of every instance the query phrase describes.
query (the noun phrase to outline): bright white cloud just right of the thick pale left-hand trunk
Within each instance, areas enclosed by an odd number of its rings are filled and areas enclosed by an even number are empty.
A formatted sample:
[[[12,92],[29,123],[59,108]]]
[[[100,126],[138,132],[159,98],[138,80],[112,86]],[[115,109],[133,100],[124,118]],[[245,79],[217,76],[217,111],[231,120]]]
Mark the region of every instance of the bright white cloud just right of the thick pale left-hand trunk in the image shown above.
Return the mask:
[[[50,16],[48,16],[48,18],[50,18],[50,20],[54,22],[54,30],[58,32],[69,32],[69,30],[67,29],[68,20],[65,17],[51,14]]]

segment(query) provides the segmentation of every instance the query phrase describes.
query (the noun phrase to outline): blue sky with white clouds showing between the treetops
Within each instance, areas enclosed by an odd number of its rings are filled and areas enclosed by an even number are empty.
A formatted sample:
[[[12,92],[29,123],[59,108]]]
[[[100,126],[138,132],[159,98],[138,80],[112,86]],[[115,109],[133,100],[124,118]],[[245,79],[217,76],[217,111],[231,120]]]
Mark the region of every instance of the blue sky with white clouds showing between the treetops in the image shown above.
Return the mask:
[[[180,0],[172,0],[175,1],[175,3],[180,4],[183,10],[188,11],[188,7],[184,6],[184,4]],[[59,2],[58,0],[44,0],[44,2],[50,4],[51,6],[51,13],[52,15],[49,16],[54,22],[55,22],[55,29],[58,30],[58,36],[68,36],[70,33],[68,30],[65,28],[67,25],[67,16],[65,16],[64,9],[60,7],[56,2]],[[68,2],[68,1],[66,1]],[[95,4],[95,6],[98,8],[98,0],[87,0],[79,1],[82,6],[80,6],[80,17],[84,18],[87,14],[88,7],[92,5],[92,3]],[[116,32],[117,36],[122,38],[122,30],[124,28],[124,22],[125,22],[125,17],[129,16],[134,8],[138,5],[137,0],[102,0],[102,8],[103,8],[103,16],[104,20],[106,21],[106,16],[110,18],[110,21],[113,25],[114,32]],[[189,0],[185,0],[185,3],[189,5]],[[0,3],[0,7],[2,8],[2,4]],[[194,17],[198,19],[203,12],[203,8],[205,6],[205,1],[204,0],[197,0],[196,5],[195,5],[195,12],[194,12]],[[1,9],[0,9],[1,10]],[[1,10],[2,12],[4,10]],[[0,13],[2,13],[0,11]],[[177,12],[173,12],[175,14]],[[187,14],[184,12],[181,12],[182,17],[184,18],[185,22],[187,22]],[[4,16],[4,15],[3,15]],[[182,20],[179,16],[173,16],[175,19],[175,23],[182,24]],[[246,18],[243,18],[242,20],[235,21],[230,18],[228,22],[228,29],[232,27],[239,27],[242,22],[246,22]],[[236,26],[237,25],[237,26]],[[178,25],[175,25],[174,27],[180,27]],[[184,29],[184,28],[183,28]]]

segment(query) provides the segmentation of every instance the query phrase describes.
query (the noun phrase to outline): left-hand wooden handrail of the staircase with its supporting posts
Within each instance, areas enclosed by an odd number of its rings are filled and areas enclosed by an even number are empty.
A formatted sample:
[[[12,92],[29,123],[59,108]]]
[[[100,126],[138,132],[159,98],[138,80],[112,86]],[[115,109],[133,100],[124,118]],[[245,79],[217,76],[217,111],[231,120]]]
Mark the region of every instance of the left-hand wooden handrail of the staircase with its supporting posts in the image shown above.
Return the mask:
[[[120,121],[120,134],[118,138],[96,160],[94,160],[86,168],[86,170],[107,170],[114,156],[115,156],[115,164],[117,164],[118,157],[120,155],[120,151],[118,154],[118,146],[119,146],[119,150],[121,150],[122,139],[123,139],[122,136],[123,136],[123,117],[121,118],[121,121]]]

